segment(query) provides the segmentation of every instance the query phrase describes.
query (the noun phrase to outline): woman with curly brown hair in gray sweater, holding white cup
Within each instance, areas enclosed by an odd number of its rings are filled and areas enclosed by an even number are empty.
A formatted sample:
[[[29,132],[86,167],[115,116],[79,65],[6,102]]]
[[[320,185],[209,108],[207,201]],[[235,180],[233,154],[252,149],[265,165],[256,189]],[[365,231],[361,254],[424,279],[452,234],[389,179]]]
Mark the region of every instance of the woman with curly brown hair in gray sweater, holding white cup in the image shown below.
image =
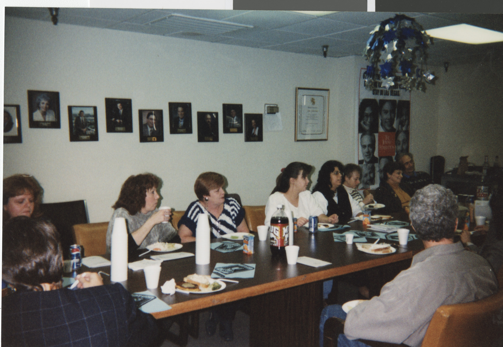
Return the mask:
[[[112,229],[117,217],[126,219],[128,233],[138,249],[156,242],[169,242],[177,236],[177,230],[168,222],[171,210],[157,209],[159,185],[159,177],[151,173],[129,176],[124,182],[119,198],[112,206],[115,211],[108,223],[107,253],[110,253]],[[131,238],[129,241],[131,243]]]

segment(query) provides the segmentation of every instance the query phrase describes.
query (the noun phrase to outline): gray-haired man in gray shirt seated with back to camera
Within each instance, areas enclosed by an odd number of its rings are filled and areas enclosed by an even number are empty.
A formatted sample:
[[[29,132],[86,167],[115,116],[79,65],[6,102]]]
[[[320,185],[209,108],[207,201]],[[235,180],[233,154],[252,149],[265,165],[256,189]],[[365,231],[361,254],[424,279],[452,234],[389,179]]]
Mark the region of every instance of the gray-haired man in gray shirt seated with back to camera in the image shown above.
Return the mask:
[[[336,316],[346,320],[339,346],[367,346],[357,341],[361,338],[419,347],[438,307],[495,293],[496,276],[487,261],[454,243],[457,213],[451,190],[430,184],[416,191],[410,200],[410,220],[425,250],[412,258],[410,268],[385,284],[379,296],[347,314],[340,305],[326,306],[321,313],[320,346],[326,319]]]

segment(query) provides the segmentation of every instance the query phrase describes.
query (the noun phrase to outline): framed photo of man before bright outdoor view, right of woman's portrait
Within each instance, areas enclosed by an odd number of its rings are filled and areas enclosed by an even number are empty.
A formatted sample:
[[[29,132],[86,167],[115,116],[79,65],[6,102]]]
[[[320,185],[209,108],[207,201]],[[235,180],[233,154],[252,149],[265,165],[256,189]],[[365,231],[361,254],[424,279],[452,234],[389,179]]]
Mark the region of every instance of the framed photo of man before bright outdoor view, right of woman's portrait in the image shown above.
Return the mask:
[[[98,141],[98,111],[96,106],[68,106],[70,142]]]

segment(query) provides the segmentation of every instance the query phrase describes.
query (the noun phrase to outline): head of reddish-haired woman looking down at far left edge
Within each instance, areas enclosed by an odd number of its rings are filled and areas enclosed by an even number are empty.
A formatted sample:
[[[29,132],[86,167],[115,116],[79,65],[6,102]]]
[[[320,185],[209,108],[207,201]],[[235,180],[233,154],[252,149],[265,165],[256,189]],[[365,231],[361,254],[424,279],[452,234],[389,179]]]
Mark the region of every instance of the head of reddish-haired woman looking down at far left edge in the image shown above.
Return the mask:
[[[44,190],[32,175],[4,178],[4,223],[19,215],[39,217]]]

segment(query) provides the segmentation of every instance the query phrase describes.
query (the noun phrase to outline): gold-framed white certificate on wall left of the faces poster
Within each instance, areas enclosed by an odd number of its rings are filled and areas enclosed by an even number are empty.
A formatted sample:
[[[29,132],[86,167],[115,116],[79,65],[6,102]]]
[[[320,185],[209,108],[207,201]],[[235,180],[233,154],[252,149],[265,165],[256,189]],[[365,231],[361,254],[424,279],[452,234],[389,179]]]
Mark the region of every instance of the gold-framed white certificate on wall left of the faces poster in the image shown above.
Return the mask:
[[[295,141],[328,140],[329,89],[295,89]]]

